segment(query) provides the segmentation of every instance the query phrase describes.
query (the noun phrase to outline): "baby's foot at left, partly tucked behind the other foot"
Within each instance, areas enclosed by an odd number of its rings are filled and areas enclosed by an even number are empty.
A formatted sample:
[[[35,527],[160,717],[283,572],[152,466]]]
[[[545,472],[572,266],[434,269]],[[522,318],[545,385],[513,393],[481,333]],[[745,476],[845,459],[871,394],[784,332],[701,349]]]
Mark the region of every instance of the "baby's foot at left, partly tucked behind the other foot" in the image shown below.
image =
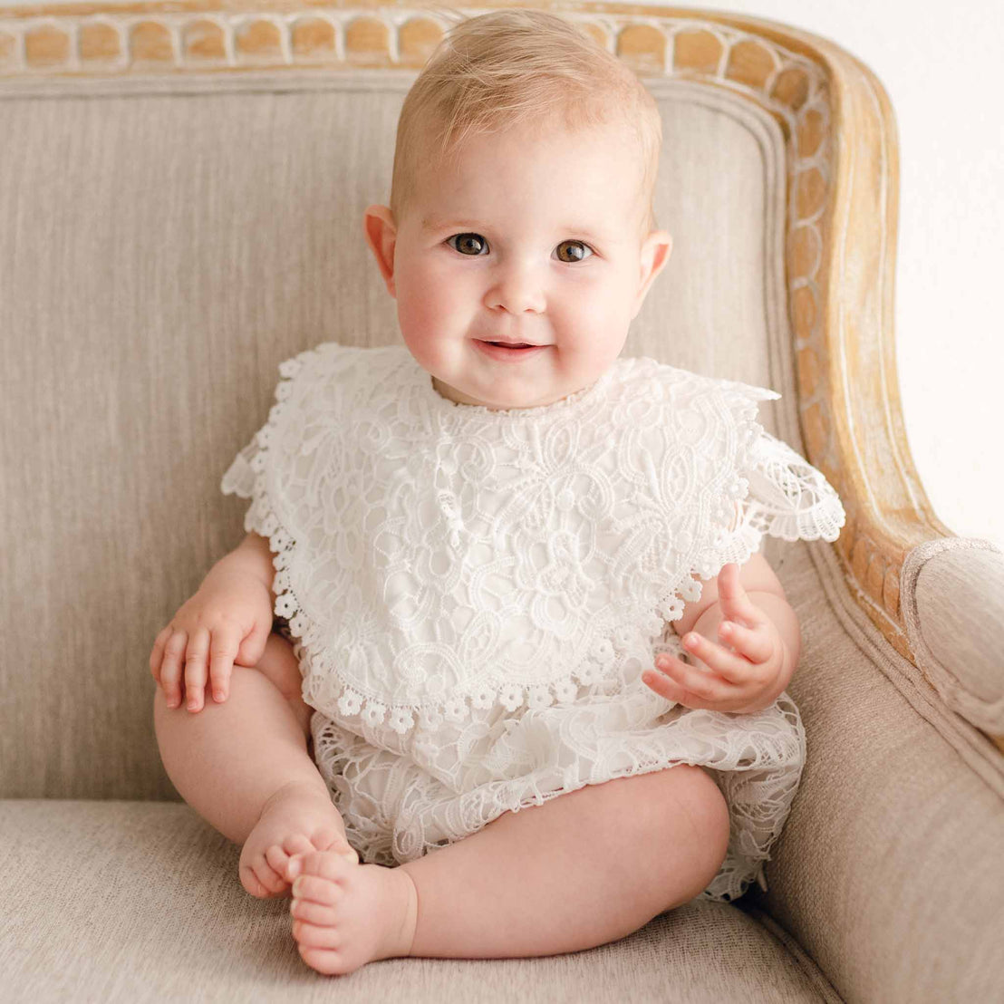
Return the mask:
[[[287,784],[262,807],[241,850],[241,885],[267,900],[286,896],[283,877],[292,854],[331,850],[357,861],[345,839],[345,825],[326,788]]]

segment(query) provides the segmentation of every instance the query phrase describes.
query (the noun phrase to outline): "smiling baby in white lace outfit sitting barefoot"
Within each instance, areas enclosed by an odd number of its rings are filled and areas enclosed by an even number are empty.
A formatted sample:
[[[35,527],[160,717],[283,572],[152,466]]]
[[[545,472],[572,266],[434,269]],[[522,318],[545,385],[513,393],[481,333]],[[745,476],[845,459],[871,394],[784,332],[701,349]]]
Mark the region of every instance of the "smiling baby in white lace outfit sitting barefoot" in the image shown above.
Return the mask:
[[[661,142],[564,19],[458,17],[364,216],[404,345],[282,364],[224,479],[249,532],[157,637],[165,767],[321,973],[763,884],[804,734],[758,546],[843,512],[753,421],[776,394],[619,358],[670,255]]]

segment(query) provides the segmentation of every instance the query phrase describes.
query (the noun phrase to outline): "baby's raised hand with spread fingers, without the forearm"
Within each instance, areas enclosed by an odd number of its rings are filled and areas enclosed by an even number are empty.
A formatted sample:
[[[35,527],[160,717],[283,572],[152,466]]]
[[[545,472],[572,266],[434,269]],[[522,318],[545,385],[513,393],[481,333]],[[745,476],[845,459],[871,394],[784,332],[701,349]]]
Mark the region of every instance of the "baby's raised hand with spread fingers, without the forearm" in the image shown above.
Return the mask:
[[[718,600],[723,617],[718,637],[724,647],[693,631],[683,638],[684,648],[711,672],[663,653],[656,659],[661,674],[647,672],[642,680],[685,708],[760,711],[776,690],[787,647],[773,620],[740,585],[738,565],[727,564],[718,573]]]

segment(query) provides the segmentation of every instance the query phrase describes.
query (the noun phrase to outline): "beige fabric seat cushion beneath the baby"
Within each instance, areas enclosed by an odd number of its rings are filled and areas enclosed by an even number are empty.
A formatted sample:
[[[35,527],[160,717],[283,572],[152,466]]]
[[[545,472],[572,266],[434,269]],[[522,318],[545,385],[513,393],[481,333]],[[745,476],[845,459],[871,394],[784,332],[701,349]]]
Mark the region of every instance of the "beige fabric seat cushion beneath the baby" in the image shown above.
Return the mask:
[[[237,846],[187,805],[0,801],[0,846],[10,1002],[839,1000],[783,932],[736,905],[692,901],[583,952],[385,959],[329,977],[300,959],[288,900],[245,893]]]

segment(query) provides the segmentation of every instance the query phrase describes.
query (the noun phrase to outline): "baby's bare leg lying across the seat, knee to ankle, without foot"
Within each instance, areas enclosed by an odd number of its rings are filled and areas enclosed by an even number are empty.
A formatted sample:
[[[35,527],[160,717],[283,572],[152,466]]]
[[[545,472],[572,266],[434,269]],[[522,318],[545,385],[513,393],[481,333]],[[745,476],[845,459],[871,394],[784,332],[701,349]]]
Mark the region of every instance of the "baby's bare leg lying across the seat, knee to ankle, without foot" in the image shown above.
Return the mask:
[[[412,954],[496,959],[615,941],[698,896],[728,842],[724,796],[686,764],[505,812],[403,865],[419,893]]]

